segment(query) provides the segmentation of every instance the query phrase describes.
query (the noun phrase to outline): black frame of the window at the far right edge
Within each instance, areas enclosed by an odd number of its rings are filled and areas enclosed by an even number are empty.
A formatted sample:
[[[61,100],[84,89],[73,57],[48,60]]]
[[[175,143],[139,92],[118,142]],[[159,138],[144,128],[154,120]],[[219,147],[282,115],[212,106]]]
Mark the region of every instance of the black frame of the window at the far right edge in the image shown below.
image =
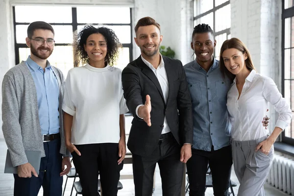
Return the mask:
[[[293,5],[294,5],[294,0],[293,0]],[[294,80],[294,79],[285,79],[285,19],[292,18],[292,17],[294,17],[294,6],[285,9],[285,0],[282,0],[282,78],[281,78],[282,82],[281,82],[281,84],[282,84],[283,97],[285,97],[285,83],[284,83],[284,81],[285,80]],[[293,20],[293,19],[291,19],[291,20]],[[292,22],[291,22],[291,25],[292,25]],[[290,40],[292,38],[291,36],[292,36],[292,33],[290,35]],[[289,49],[294,49],[294,48],[290,46]],[[290,62],[291,62],[291,60],[292,59],[290,56]],[[291,71],[291,67],[290,67],[290,71]],[[291,88],[291,82],[290,82],[290,88]],[[292,92],[290,90],[290,97],[292,97],[292,96],[294,96],[294,95],[292,95]],[[291,101],[291,99],[290,99],[290,101]],[[294,103],[290,102],[290,104],[294,104]],[[291,129],[291,135],[292,135],[292,126],[291,125],[290,125],[290,129]],[[294,135],[292,137],[294,137]],[[294,146],[294,138],[286,137],[285,131],[282,132],[282,142],[285,144],[289,144],[289,145]]]

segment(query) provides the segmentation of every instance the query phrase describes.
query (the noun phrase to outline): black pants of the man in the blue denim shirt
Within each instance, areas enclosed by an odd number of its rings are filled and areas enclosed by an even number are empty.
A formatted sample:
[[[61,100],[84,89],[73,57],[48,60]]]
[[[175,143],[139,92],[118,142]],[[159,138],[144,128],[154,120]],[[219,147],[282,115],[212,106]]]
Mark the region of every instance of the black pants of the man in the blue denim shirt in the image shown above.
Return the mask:
[[[221,149],[204,151],[192,148],[192,157],[187,162],[190,196],[204,196],[206,171],[209,163],[215,196],[229,196],[232,168],[231,145]]]

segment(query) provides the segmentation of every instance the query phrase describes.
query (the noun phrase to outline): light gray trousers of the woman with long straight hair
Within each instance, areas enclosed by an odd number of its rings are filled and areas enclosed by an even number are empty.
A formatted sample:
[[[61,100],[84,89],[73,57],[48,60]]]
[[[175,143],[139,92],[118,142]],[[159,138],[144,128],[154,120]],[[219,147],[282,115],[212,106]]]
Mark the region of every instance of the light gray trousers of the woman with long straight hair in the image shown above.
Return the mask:
[[[242,142],[232,140],[234,169],[240,182],[238,196],[265,196],[263,185],[270,172],[274,150],[271,147],[269,155],[266,155],[260,150],[255,152],[255,148],[267,138]]]

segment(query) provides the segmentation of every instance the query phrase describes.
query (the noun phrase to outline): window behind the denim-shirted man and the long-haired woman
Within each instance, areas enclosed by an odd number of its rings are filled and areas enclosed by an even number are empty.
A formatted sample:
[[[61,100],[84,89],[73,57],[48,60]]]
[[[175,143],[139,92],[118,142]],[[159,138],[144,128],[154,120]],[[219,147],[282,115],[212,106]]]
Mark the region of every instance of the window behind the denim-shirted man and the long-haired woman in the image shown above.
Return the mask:
[[[205,23],[215,33],[214,56],[219,59],[222,43],[231,38],[231,5],[229,0],[193,0],[194,26]]]

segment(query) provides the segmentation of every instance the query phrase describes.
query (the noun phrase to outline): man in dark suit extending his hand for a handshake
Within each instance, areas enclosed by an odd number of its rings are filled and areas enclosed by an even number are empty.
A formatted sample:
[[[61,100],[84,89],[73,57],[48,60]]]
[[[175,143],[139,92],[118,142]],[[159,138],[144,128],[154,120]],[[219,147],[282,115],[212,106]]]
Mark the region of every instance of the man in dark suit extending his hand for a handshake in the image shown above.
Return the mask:
[[[134,116],[127,147],[133,156],[135,195],[152,195],[158,163],[163,196],[180,196],[184,163],[191,157],[193,142],[186,75],[179,60],[159,53],[162,35],[154,19],[140,19],[135,32],[141,56],[122,73],[124,98]]]

